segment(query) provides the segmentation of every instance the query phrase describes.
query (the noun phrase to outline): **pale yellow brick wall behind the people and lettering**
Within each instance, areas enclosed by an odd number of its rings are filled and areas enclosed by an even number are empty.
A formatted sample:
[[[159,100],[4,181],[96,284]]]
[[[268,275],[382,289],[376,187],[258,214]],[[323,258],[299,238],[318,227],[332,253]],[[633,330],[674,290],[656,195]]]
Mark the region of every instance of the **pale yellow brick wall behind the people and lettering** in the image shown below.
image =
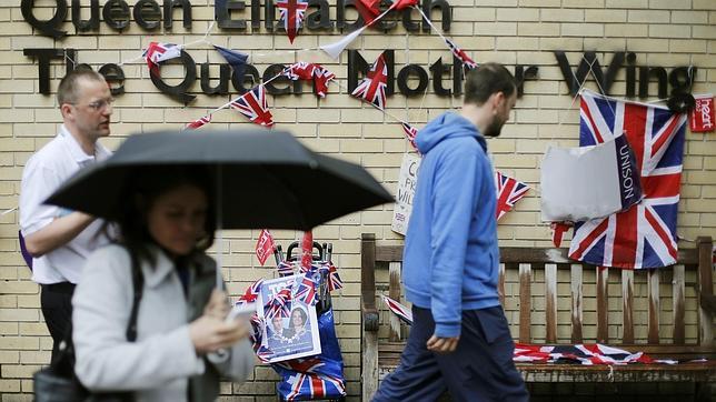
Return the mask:
[[[34,13],[39,19],[51,17],[54,1],[34,2]],[[105,2],[100,1],[100,6]],[[89,1],[81,0],[80,3],[87,7]],[[129,3],[130,8],[133,7],[133,1]],[[138,57],[152,40],[189,43],[200,39],[213,18],[213,0],[191,0],[191,29],[181,27],[179,11],[176,11],[173,28],[166,34],[163,28],[145,31],[133,19],[121,34],[103,22],[98,32],[78,34],[69,22],[71,11],[68,10],[67,21],[61,27],[68,31],[68,37],[54,40],[34,32],[23,20],[20,0],[0,0],[0,211],[17,205],[19,181],[27,159],[54,135],[61,121],[53,97],[39,93],[37,61],[24,57],[22,50],[76,48],[78,61],[96,69],[103,63],[119,63]],[[329,3],[335,19],[335,2]],[[539,220],[537,188],[540,158],[547,144],[577,144],[578,101],[573,102],[567,94],[554,50],[567,52],[573,70],[583,52],[590,50],[597,51],[603,67],[609,63],[614,51],[636,52],[638,66],[660,66],[667,71],[693,64],[698,68],[694,92],[716,91],[716,2],[713,0],[451,0],[449,3],[453,6],[453,24],[447,34],[476,61],[498,61],[510,69],[516,63],[539,66],[538,79],[525,84],[525,96],[517,103],[503,135],[489,140],[496,168],[535,189],[500,221],[501,245],[549,245],[549,229]],[[82,17],[87,18],[88,13],[84,8]],[[250,11],[247,9],[240,16],[248,19]],[[355,11],[349,11],[347,18],[352,20],[355,16]],[[437,18],[437,12],[432,17]],[[335,72],[340,86],[331,83],[330,93],[324,100],[315,98],[306,84],[302,96],[269,96],[276,128],[291,131],[319,152],[361,163],[395,192],[402,154],[409,150],[399,123],[346,93],[346,53],[336,62],[318,51],[290,52],[317,48],[341,37],[338,30],[320,32],[304,31],[290,46],[284,34],[267,32],[262,24],[256,32],[249,29],[248,32],[232,33],[217,28],[210,41],[248,52],[260,73],[271,63],[298,60],[320,62]],[[450,53],[439,37],[407,33],[400,24],[387,33],[367,31],[352,48],[359,49],[369,63],[384,49],[394,49],[396,74],[408,62],[420,64],[425,70],[440,57],[444,62],[451,62]],[[193,46],[187,51],[198,63],[223,62],[206,44]],[[105,140],[110,148],[116,148],[133,132],[179,129],[236,96],[232,91],[231,97],[209,97],[200,93],[200,84],[196,82],[191,90],[197,98],[183,107],[152,86],[142,62],[128,63],[122,69],[127,93],[118,97],[112,137]],[[63,71],[63,66],[52,61],[52,92]],[[211,72],[217,74],[218,67],[213,66]],[[176,83],[182,71],[170,66],[162,69],[162,76]],[[621,69],[611,90],[614,96],[625,93],[625,69]],[[451,84],[447,74],[444,83],[446,88]],[[428,88],[427,94],[414,98],[396,91],[388,98],[387,111],[422,127],[440,112],[460,104],[459,98],[435,96],[431,82]],[[597,89],[593,80],[586,88]],[[655,92],[656,87],[652,84],[650,93]],[[243,117],[223,110],[215,114],[208,129],[250,127]],[[688,240],[703,234],[716,237],[715,135],[690,132],[686,135],[678,233]],[[330,189],[327,190],[326,195],[330,197]],[[246,191],[248,197],[261,197],[251,194],[251,189]],[[380,241],[400,242],[401,237],[390,230],[391,208],[384,205],[354,213],[315,231],[317,240],[334,243],[335,262],[346,282],[346,288],[335,299],[335,308],[348,392],[355,400],[359,399],[360,389],[359,239],[361,232],[375,232]],[[30,272],[19,254],[17,231],[17,212],[0,217],[0,394],[3,402],[31,400],[31,374],[48,362],[51,349],[38,309],[38,287],[29,280]],[[270,267],[259,267],[253,257],[257,235],[258,231],[225,233],[225,278],[232,294],[242,292],[258,278],[275,275]],[[287,247],[300,233],[277,231],[275,235]],[[683,241],[679,245],[692,248],[693,243]],[[514,304],[508,298],[507,303]],[[559,302],[561,315],[564,305],[568,306],[568,301]],[[508,315],[514,316],[511,313]],[[585,322],[590,318],[594,319],[586,312]],[[586,331],[587,336],[591,330]],[[272,401],[275,379],[269,368],[257,368],[246,384],[225,383],[225,400]]]

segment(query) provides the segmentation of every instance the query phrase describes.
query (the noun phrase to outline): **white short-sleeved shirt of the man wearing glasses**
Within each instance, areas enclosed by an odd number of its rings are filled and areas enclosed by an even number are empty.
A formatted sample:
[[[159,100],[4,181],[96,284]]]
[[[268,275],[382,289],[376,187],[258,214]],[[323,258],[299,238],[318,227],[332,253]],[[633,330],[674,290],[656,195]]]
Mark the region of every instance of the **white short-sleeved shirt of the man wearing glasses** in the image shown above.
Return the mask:
[[[23,237],[44,228],[56,218],[72,211],[44,204],[67,179],[78,170],[109,158],[100,143],[95,155],[88,155],[64,125],[52,141],[34,153],[22,171],[20,188],[20,231]],[[107,243],[100,229],[103,221],[95,220],[69,243],[32,259],[32,280],[37,283],[77,283],[90,252]]]

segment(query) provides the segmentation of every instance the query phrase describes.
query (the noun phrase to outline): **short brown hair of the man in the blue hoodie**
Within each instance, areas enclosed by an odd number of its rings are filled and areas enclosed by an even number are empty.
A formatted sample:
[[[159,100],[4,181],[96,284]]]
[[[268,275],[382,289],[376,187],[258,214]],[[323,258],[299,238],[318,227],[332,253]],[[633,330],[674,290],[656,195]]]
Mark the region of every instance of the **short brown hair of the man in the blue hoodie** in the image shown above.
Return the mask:
[[[484,63],[467,73],[465,103],[481,105],[493,93],[510,97],[516,90],[515,77],[503,64]]]

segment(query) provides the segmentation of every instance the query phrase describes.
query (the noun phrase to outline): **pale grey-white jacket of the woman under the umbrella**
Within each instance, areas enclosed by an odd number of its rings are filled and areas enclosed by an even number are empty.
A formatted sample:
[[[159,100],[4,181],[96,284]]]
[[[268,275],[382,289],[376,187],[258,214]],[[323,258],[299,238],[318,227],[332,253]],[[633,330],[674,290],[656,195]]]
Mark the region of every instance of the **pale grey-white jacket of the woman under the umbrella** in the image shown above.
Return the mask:
[[[213,401],[220,376],[243,381],[251,373],[250,343],[237,343],[221,364],[197,355],[188,323],[203,312],[216,263],[206,254],[192,259],[185,297],[171,260],[159,249],[153,252],[153,267],[141,263],[136,342],[126,338],[135,293],[129,253],[113,244],[87,260],[72,298],[76,374],[92,391],[136,391],[136,401]]]

